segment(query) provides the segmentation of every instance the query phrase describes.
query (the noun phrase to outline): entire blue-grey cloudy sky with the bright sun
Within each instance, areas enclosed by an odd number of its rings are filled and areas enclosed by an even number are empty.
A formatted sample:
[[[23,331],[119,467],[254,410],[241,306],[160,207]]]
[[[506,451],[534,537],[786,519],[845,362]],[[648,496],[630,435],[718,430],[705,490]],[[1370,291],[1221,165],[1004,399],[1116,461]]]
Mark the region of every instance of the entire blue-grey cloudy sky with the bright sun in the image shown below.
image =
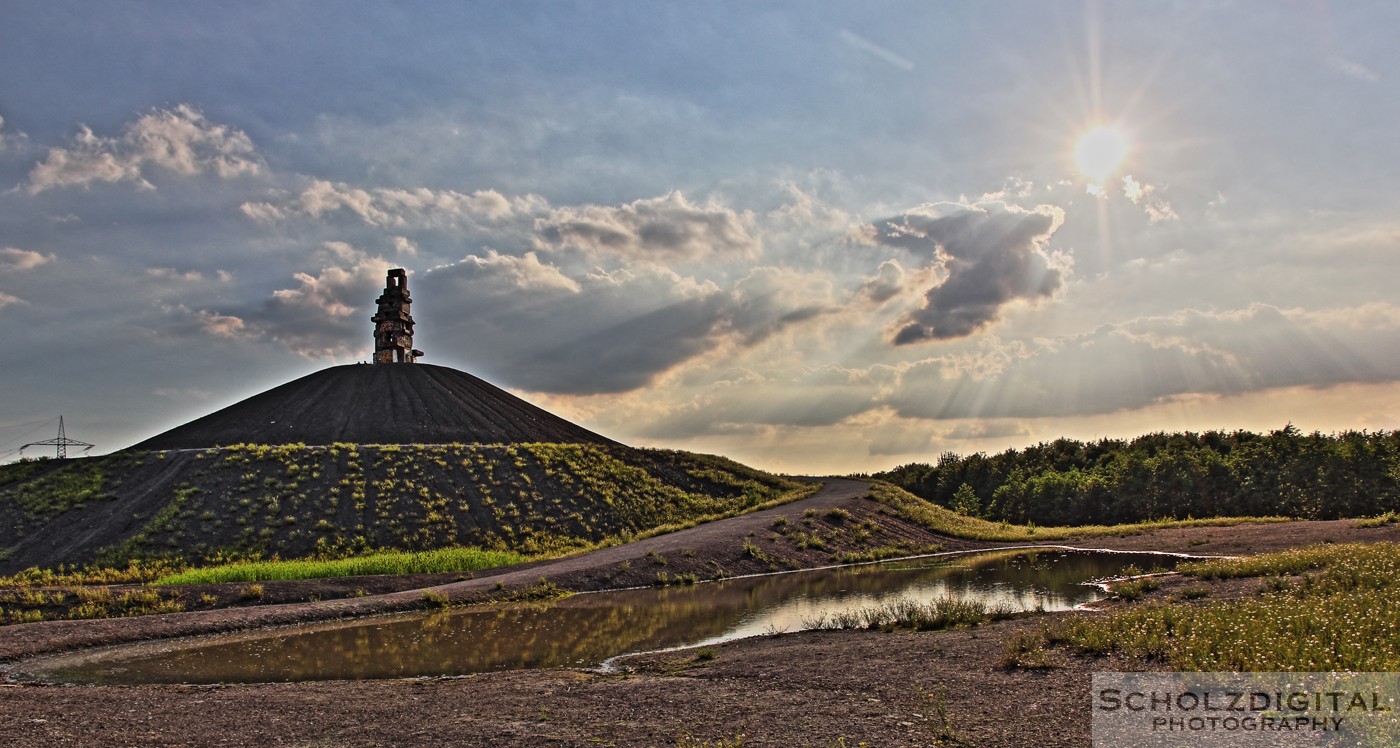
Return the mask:
[[[0,458],[367,360],[841,473],[1400,427],[1400,4],[0,3]],[[27,455],[45,454],[31,447]]]

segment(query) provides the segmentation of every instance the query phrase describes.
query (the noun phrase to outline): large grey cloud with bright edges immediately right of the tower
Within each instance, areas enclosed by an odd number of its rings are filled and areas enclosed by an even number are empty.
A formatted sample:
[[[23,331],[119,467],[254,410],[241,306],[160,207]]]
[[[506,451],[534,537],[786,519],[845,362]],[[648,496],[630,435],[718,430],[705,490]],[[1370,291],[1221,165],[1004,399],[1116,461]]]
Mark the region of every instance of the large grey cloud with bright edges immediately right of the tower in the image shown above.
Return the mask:
[[[820,273],[756,268],[721,289],[645,262],[570,273],[535,252],[470,255],[417,289],[438,310],[434,346],[512,387],[571,395],[640,389],[839,308]]]

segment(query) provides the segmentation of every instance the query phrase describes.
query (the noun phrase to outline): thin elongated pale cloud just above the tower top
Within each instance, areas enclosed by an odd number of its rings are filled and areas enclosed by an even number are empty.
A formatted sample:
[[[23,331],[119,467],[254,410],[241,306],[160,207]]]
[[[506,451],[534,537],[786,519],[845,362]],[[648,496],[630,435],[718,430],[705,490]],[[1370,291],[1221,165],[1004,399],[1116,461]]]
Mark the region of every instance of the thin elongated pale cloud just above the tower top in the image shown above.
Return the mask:
[[[381,228],[451,228],[479,221],[529,217],[547,209],[538,195],[507,198],[494,189],[465,193],[451,189],[361,189],[314,179],[298,195],[277,202],[248,202],[249,219],[272,224],[293,217],[326,219],[340,212]]]

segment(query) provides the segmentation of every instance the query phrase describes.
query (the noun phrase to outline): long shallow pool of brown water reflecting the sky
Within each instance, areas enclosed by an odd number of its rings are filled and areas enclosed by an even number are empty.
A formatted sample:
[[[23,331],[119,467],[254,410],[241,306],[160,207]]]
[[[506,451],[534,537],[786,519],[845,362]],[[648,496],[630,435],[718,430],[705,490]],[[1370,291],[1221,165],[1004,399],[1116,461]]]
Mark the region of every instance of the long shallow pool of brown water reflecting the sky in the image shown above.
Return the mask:
[[[629,651],[798,630],[823,614],[900,598],[927,602],[951,595],[1022,611],[1067,609],[1102,597],[1086,580],[1128,565],[1173,563],[1172,556],[1068,550],[941,556],[136,644],[35,661],[17,675],[90,684],[218,684],[587,667]]]

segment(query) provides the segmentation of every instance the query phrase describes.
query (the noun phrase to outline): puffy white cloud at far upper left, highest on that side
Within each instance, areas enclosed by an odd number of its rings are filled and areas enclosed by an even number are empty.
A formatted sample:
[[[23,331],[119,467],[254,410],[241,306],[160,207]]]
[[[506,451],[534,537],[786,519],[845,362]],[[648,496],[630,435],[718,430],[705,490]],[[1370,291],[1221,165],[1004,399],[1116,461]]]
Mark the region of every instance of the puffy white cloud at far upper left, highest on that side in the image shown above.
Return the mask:
[[[181,176],[231,178],[262,171],[262,160],[242,130],[214,125],[189,105],[155,109],[127,125],[119,137],[83,127],[66,148],[49,148],[29,171],[29,193],[94,182],[136,182],[154,189],[151,171]]]

